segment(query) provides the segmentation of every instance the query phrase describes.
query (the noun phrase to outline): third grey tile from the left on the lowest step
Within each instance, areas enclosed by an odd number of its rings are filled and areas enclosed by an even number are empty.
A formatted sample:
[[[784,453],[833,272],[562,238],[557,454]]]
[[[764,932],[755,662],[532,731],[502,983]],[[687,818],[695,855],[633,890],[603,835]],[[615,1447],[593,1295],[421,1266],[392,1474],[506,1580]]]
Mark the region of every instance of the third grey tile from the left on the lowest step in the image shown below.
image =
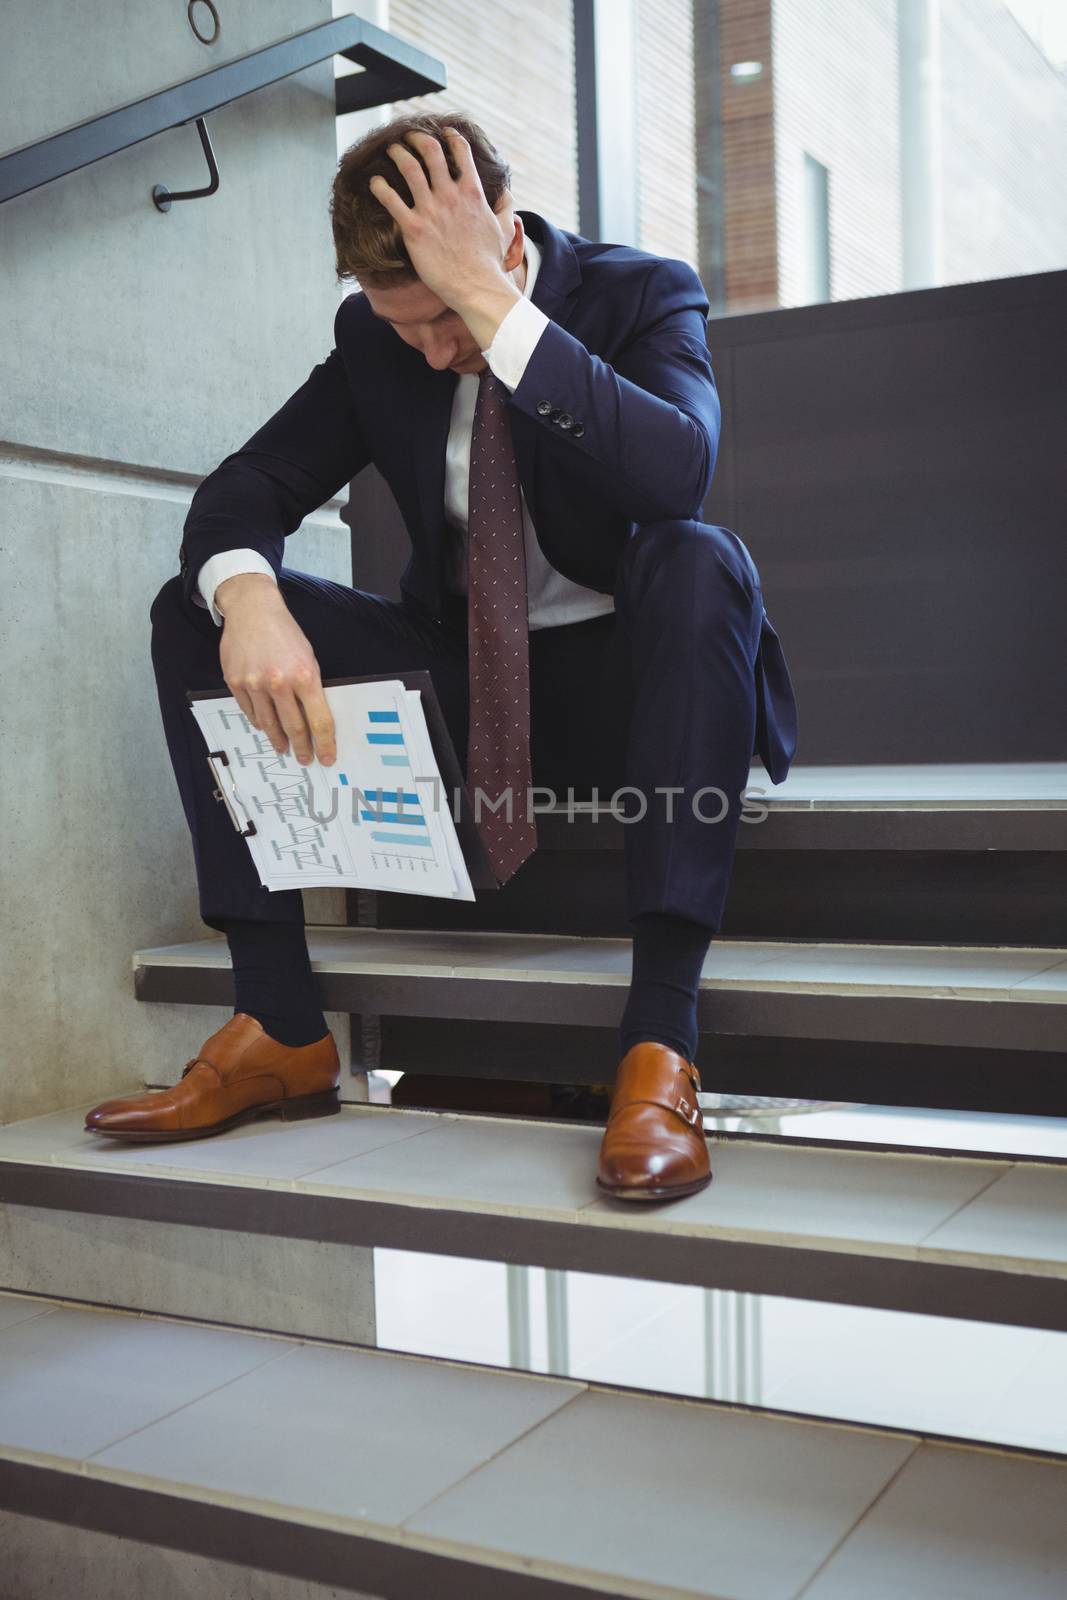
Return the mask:
[[[411,1526],[696,1594],[789,1595],[912,1453],[907,1438],[587,1394]]]

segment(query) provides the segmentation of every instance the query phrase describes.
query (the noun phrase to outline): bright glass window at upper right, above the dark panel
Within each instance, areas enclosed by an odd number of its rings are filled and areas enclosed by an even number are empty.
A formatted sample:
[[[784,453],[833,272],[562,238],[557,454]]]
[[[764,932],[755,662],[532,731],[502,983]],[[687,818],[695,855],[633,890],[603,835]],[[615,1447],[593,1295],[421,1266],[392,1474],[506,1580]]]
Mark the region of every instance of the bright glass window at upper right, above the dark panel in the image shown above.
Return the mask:
[[[715,312],[1067,267],[1062,0],[697,0],[693,21]]]

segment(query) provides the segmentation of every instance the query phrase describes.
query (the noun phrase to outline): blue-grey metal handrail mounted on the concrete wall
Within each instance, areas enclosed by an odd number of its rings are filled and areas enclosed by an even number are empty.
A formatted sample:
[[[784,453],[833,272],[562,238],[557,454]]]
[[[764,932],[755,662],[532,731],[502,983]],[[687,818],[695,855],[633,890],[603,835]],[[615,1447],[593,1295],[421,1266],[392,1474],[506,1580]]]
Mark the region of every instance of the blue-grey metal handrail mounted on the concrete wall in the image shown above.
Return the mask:
[[[443,90],[446,83],[445,66],[435,56],[427,56],[426,51],[374,27],[365,18],[339,16],[282,38],[275,45],[253,50],[237,61],[211,67],[184,83],[157,90],[144,99],[131,101],[101,117],[90,117],[74,128],[64,128],[62,133],[53,133],[46,139],[8,152],[0,157],[0,202],[40,189],[42,184],[66,178],[80,166],[117,155],[131,144],[141,144],[142,139],[150,139],[168,128],[181,128],[189,122],[197,122],[206,154],[210,144],[205,142],[203,117],[208,112],[219,110],[221,106],[229,106],[245,94],[254,94],[256,90],[302,72],[330,56],[344,56],[365,69],[336,80],[338,117]],[[218,189],[216,179],[218,171],[213,173],[213,184],[205,192]],[[171,198],[179,197],[171,195]]]

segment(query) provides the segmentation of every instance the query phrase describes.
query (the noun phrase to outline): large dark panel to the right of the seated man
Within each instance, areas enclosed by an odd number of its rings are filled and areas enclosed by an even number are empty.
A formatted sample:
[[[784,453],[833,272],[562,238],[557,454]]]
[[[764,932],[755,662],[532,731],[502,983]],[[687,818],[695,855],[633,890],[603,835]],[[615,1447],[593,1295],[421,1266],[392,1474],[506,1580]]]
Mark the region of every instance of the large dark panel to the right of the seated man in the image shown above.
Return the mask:
[[[1067,272],[725,318],[801,762],[1062,760]],[[728,520],[733,518],[733,520]]]

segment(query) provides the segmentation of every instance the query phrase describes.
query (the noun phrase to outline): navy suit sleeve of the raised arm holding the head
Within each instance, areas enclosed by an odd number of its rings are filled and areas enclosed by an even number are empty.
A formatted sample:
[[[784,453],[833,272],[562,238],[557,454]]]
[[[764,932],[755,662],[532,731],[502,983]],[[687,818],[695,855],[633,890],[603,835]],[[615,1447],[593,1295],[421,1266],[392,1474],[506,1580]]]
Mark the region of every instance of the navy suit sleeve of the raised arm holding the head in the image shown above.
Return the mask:
[[[710,488],[720,403],[707,310],[693,267],[661,258],[613,363],[549,322],[512,392],[630,522],[696,517]]]

